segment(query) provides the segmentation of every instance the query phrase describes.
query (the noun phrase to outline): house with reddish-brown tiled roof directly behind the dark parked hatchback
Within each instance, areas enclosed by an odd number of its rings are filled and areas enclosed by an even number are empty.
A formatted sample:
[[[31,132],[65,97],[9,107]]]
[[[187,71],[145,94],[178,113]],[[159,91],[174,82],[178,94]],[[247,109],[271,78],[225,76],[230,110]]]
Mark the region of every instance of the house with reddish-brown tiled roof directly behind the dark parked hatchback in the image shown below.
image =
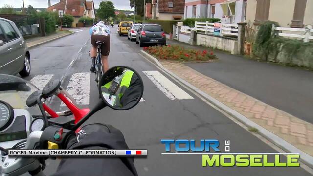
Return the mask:
[[[184,17],[185,0],[152,0],[152,18],[180,20]]]

